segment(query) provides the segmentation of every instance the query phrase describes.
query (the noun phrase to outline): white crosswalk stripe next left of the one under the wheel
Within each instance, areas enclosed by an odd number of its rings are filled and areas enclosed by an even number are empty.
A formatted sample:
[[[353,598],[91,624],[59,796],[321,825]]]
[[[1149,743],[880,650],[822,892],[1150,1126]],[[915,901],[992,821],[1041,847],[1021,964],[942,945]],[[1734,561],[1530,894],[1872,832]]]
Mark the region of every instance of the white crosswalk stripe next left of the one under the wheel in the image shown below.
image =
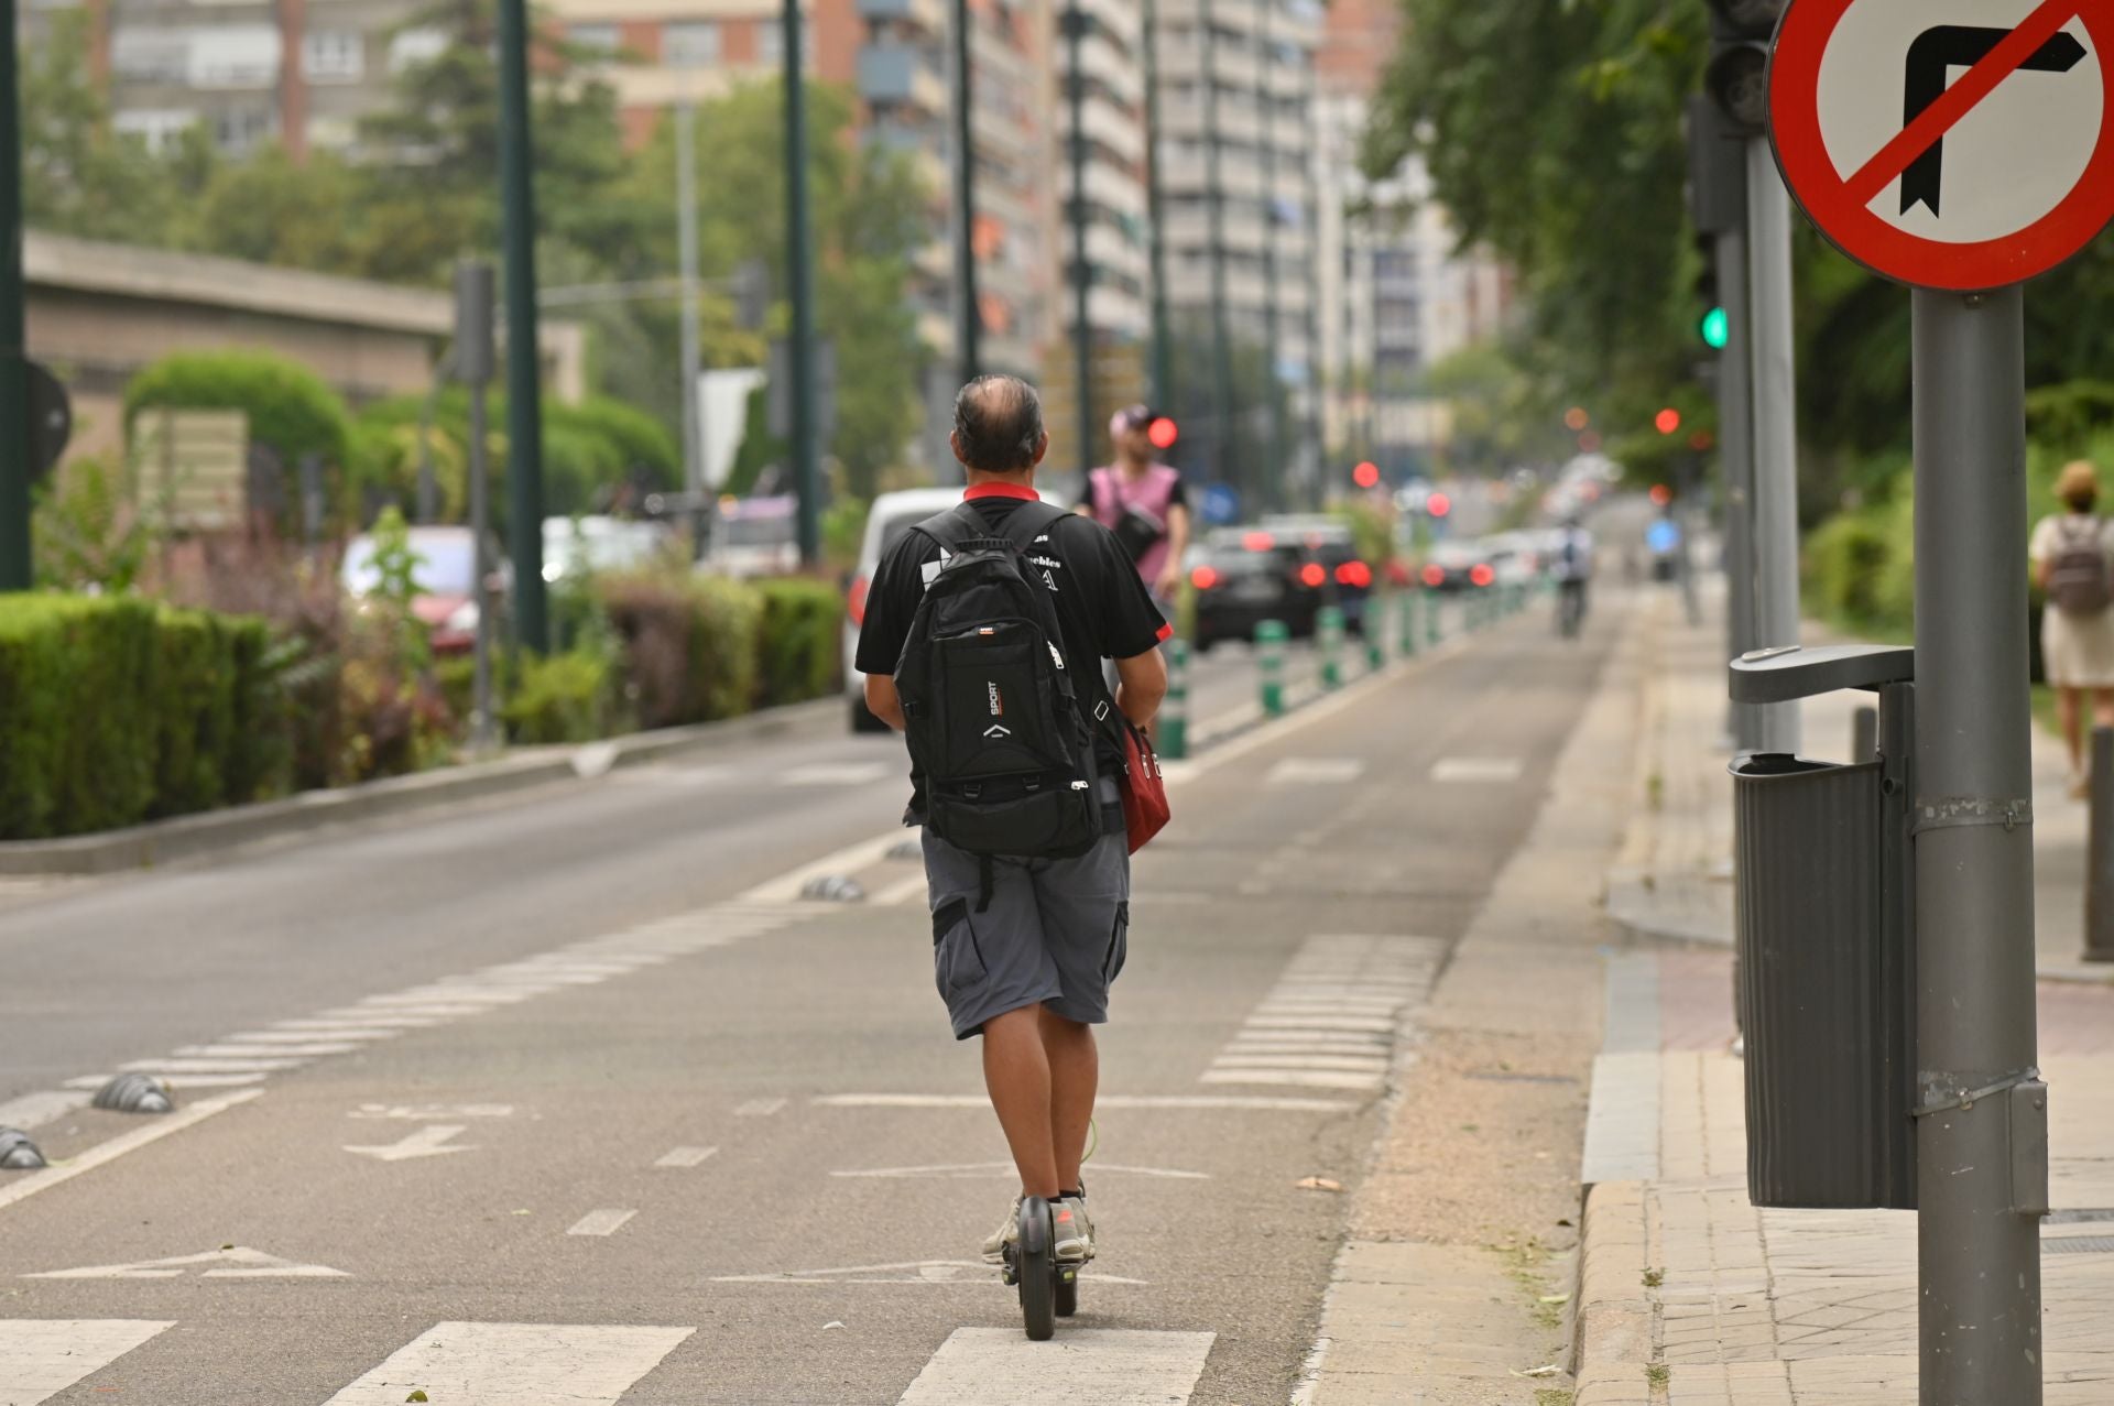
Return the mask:
[[[433,1324],[323,1406],[615,1406],[696,1328]]]

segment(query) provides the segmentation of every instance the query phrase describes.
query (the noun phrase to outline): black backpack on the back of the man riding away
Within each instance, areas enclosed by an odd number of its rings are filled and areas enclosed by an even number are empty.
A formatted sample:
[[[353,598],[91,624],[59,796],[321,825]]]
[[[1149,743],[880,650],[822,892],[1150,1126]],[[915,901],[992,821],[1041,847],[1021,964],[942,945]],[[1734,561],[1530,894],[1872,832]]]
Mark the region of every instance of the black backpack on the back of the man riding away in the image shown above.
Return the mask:
[[[941,545],[941,560],[926,567],[896,693],[924,772],[926,829],[970,854],[1061,858],[1101,837],[1093,738],[1112,702],[1099,660],[1074,668],[1065,658],[1057,605],[1030,560],[1063,516],[1023,503],[991,535],[962,503],[911,529]]]

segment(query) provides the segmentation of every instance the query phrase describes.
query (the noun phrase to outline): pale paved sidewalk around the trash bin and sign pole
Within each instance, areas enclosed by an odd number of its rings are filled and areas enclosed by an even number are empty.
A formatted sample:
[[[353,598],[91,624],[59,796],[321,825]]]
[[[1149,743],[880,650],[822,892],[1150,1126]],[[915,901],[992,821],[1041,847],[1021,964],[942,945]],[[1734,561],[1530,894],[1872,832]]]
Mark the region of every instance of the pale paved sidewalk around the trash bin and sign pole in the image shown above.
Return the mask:
[[[1907,1406],[1915,1216],[1774,1211],[1746,1197],[1721,655],[1712,632],[1670,609],[1647,622],[1643,797],[1609,905],[1636,935],[1698,945],[1647,943],[1609,960],[1581,1169],[1575,1402]],[[1833,715],[1820,702],[1807,704],[1805,751],[1841,757],[1856,700]],[[2059,1207],[2042,1269],[2051,1406],[2114,1400],[2114,989],[2076,964],[2078,810],[2057,748],[2036,740],[2040,1051]]]

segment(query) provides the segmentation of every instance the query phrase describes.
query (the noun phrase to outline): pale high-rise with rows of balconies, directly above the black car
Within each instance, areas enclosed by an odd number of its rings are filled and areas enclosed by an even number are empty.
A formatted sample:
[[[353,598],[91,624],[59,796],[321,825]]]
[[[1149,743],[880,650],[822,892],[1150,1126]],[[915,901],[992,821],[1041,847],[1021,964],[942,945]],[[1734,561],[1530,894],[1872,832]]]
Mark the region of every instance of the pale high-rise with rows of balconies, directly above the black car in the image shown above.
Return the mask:
[[[1311,0],[1161,0],[1158,161],[1188,465],[1298,495],[1315,307]],[[1275,406],[1275,412],[1273,412]]]

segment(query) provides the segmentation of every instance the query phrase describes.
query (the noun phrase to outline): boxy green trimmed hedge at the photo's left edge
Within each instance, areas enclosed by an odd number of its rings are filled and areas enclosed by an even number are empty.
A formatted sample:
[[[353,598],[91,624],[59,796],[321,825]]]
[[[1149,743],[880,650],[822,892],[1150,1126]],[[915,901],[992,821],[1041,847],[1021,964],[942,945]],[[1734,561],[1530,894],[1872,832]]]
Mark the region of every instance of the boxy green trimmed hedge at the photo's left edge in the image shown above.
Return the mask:
[[[285,787],[258,619],[0,596],[0,839],[116,829]]]

